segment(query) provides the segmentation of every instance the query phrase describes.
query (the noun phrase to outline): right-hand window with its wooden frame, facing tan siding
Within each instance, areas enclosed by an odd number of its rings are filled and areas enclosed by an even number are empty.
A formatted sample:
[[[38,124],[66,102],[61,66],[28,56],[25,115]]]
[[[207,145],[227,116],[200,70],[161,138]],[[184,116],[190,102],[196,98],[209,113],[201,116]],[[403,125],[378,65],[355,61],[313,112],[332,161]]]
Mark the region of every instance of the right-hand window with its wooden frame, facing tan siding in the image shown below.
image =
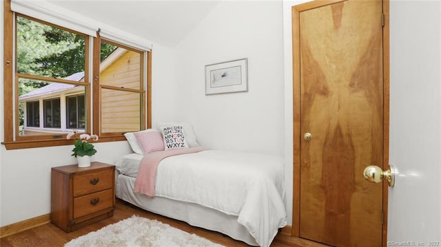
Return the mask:
[[[112,52],[107,53],[106,51]],[[94,39],[93,129],[102,138],[151,127],[151,52]],[[107,54],[103,56],[103,54]]]

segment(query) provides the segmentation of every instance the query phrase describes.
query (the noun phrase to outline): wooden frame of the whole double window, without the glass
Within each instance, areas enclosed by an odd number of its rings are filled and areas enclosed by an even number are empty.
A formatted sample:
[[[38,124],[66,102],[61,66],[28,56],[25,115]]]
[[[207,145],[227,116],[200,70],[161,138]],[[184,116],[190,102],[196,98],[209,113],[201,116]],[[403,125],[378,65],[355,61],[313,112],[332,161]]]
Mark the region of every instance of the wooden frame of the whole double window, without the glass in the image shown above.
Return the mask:
[[[19,14],[19,13],[16,13]],[[19,14],[28,19],[36,20],[41,23],[45,23],[47,25],[51,25],[57,28],[61,28],[63,30],[68,30],[69,32],[74,32],[76,34],[81,34],[74,30],[70,30],[68,28],[64,28],[59,25],[54,25],[53,23],[48,23],[46,21],[41,21],[40,19],[35,19],[32,17],[28,17],[24,14]],[[10,0],[3,1],[3,32],[4,32],[4,71],[3,71],[3,107],[4,107],[4,140],[1,144],[6,146],[7,150],[12,149],[28,149],[34,147],[54,147],[54,146],[62,146],[62,145],[70,145],[72,144],[72,140],[66,140],[66,134],[48,134],[44,136],[19,136],[18,122],[19,122],[19,104],[18,104],[18,78],[30,78],[35,80],[45,80],[50,82],[58,82],[58,83],[69,83],[75,85],[82,85],[85,87],[85,131],[89,133],[101,134],[100,132],[100,104],[99,104],[99,46],[96,48],[96,42],[100,41],[99,32],[97,32],[97,38],[85,35],[85,78],[84,82],[72,82],[70,80],[64,80],[59,78],[47,78],[44,76],[32,76],[27,74],[19,74],[14,72],[14,68],[17,64],[17,58],[14,57],[14,45],[16,42],[14,40],[14,36],[17,33],[17,30],[14,29],[14,12],[11,10]],[[93,39],[93,40],[92,40]],[[106,42],[109,42],[106,39]],[[90,49],[92,44],[92,50]],[[123,46],[118,43],[119,46]],[[132,49],[132,48],[130,48]],[[98,52],[98,54],[96,54]],[[147,75],[144,76],[147,78],[147,87],[144,90],[144,96],[142,100],[142,114],[141,114],[141,129],[151,128],[152,127],[152,51],[143,51],[147,55],[147,59],[145,59],[145,55],[143,56],[143,73]],[[93,55],[93,61],[91,62],[90,55]],[[98,59],[96,59],[98,58]],[[147,64],[144,61],[147,60]],[[94,80],[90,80],[90,69],[92,69],[92,78]],[[96,77],[98,76],[98,77]],[[143,77],[143,78],[144,78]],[[145,83],[143,83],[144,85]],[[93,89],[93,91],[92,91]],[[93,103],[92,103],[93,102]],[[92,116],[93,112],[93,118]],[[40,119],[41,122],[41,119]],[[16,125],[16,126],[14,126]],[[98,142],[113,142],[113,141],[123,141],[126,140],[123,136],[123,133],[105,133],[104,136],[100,136]]]

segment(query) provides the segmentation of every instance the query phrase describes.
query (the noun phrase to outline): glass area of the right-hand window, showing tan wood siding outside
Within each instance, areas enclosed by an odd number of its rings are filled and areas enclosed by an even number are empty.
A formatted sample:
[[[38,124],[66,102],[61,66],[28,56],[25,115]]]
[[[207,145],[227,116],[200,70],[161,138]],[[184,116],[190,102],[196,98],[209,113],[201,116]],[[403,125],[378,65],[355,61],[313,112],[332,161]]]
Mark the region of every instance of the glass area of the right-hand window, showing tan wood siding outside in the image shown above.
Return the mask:
[[[101,49],[112,47],[99,66],[101,136],[143,127],[143,52],[101,39]]]

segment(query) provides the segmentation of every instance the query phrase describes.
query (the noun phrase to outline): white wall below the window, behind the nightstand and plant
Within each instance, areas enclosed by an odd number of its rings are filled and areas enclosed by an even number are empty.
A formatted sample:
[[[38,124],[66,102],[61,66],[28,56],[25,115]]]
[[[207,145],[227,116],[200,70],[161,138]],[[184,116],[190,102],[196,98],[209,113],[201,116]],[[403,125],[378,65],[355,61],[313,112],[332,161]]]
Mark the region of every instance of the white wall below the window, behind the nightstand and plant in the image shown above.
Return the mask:
[[[110,164],[130,153],[125,142],[96,144],[96,149],[92,160]],[[6,151],[1,145],[1,226],[50,213],[50,168],[76,164],[71,150],[62,146]]]

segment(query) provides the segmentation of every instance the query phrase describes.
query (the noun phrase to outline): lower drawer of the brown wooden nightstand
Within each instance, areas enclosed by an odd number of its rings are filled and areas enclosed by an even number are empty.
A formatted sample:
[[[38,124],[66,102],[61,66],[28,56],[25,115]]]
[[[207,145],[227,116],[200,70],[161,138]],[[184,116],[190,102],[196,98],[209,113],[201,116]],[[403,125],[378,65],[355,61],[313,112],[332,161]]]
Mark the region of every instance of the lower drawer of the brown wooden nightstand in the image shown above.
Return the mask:
[[[113,190],[74,198],[74,219],[113,206]]]

